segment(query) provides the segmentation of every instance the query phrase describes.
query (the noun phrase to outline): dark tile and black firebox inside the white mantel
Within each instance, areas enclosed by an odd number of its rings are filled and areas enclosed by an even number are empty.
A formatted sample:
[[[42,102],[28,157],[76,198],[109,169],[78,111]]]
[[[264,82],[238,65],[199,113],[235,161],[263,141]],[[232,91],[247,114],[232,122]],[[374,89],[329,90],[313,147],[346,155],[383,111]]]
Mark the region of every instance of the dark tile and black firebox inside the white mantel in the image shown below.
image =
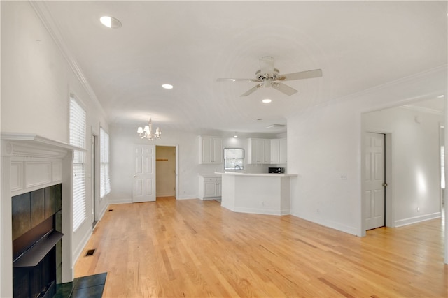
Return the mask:
[[[53,297],[62,282],[62,184],[16,195],[13,296]]]

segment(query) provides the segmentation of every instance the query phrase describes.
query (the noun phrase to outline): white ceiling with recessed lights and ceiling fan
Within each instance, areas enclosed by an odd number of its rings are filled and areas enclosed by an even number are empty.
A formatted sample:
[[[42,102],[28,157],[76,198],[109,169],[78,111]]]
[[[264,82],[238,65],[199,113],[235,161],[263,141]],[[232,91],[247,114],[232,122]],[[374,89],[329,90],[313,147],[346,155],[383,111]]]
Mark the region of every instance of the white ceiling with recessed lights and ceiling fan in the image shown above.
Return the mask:
[[[63,43],[115,124],[193,133],[269,133],[304,107],[447,64],[446,1],[47,1]],[[108,29],[99,17],[123,23]],[[254,82],[258,59],[290,81],[286,96]],[[174,89],[162,89],[169,83]],[[418,93],[418,90],[416,90]],[[272,98],[269,105],[263,98]],[[262,120],[257,120],[262,119]]]

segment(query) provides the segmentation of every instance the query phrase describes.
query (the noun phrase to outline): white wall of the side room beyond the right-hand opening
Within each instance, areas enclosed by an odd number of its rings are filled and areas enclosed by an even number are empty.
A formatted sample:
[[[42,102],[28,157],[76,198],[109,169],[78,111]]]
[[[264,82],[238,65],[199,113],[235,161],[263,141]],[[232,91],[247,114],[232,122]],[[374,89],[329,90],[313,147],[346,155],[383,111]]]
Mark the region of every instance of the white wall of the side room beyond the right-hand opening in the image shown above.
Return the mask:
[[[418,118],[416,118],[418,117]],[[443,115],[395,107],[363,115],[365,131],[391,133],[392,226],[440,216],[440,135]],[[392,204],[390,204],[392,203]],[[417,210],[419,208],[419,210]]]

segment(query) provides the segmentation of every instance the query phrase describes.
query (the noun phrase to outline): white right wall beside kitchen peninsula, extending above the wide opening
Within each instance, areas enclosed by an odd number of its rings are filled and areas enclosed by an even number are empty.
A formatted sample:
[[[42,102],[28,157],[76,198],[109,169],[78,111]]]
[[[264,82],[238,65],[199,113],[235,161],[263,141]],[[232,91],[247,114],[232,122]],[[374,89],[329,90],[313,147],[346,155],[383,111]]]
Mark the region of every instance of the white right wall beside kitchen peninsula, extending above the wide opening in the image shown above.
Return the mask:
[[[413,97],[417,91],[421,96]],[[446,66],[309,107],[290,117],[288,172],[299,174],[297,181],[291,181],[292,214],[350,234],[365,234],[361,114],[439,94],[447,94]],[[339,179],[340,174],[347,179]]]

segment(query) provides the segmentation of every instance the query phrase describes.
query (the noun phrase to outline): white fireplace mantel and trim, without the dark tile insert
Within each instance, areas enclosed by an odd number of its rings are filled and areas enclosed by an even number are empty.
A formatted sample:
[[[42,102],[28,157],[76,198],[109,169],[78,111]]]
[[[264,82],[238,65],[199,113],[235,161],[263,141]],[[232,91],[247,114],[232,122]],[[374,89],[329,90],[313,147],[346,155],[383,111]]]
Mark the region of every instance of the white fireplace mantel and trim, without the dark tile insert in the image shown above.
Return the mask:
[[[36,134],[1,133],[0,297],[13,297],[11,198],[62,183],[62,282],[73,281],[73,151],[87,151]]]

